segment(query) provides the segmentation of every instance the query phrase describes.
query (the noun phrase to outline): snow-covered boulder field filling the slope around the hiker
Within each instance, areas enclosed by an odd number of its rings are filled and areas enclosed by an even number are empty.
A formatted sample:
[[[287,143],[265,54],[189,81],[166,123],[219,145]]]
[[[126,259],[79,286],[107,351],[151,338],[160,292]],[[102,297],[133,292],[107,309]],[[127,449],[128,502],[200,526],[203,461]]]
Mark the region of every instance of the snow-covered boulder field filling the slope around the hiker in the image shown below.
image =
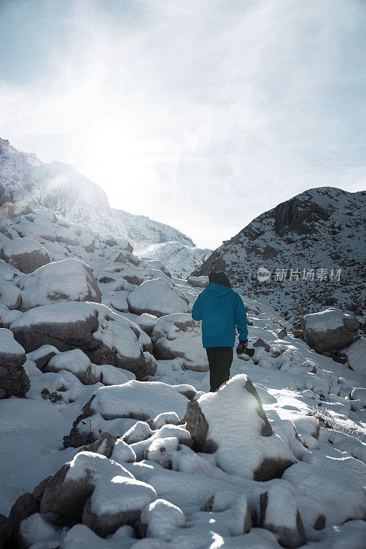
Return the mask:
[[[0,547],[365,549],[363,325],[244,295],[254,355],[210,393],[206,278],[122,236],[0,186]]]

